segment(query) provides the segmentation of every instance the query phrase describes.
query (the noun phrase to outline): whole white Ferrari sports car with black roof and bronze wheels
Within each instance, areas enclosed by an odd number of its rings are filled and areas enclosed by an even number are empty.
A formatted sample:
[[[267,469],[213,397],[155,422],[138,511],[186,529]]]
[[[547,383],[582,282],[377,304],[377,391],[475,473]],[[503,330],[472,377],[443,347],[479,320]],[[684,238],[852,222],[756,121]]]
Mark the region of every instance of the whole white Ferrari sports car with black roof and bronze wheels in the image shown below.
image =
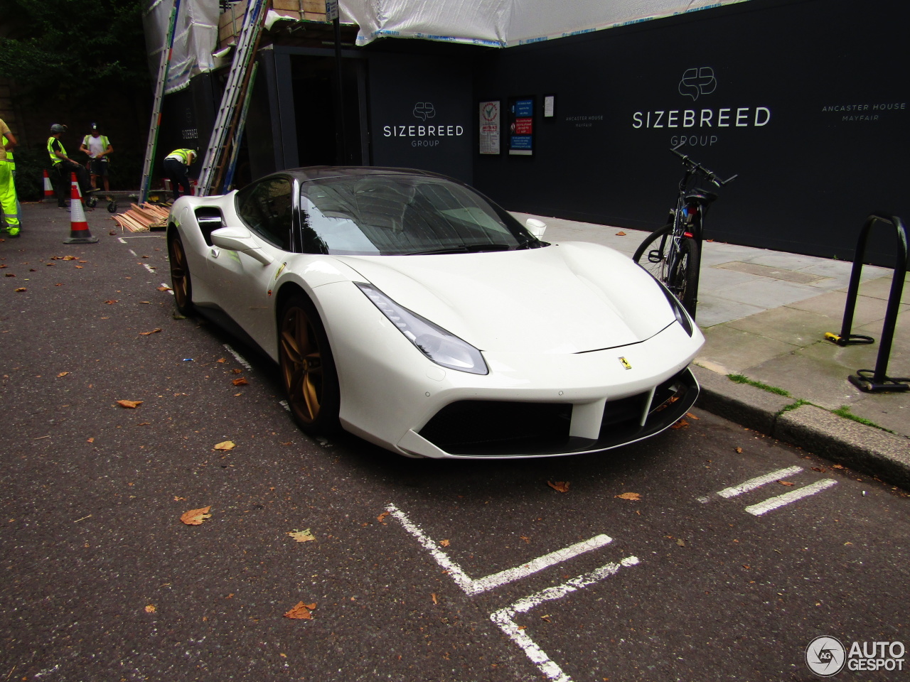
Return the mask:
[[[488,458],[660,433],[698,396],[701,332],[627,256],[543,228],[444,176],[320,166],[181,197],[167,247],[177,308],[277,361],[308,434]]]

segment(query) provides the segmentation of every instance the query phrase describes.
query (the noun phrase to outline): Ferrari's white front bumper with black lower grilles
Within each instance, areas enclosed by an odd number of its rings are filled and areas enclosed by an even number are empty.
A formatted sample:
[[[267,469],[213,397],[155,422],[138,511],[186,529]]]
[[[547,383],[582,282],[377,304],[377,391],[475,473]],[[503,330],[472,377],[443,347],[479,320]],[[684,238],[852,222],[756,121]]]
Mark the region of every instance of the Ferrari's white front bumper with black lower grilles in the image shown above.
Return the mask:
[[[353,296],[352,296],[353,294]],[[488,375],[430,362],[352,286],[319,287],[347,430],[406,456],[595,452],[672,426],[698,396],[703,344],[673,322],[629,346],[567,355],[483,352]],[[362,304],[362,305],[361,305]]]

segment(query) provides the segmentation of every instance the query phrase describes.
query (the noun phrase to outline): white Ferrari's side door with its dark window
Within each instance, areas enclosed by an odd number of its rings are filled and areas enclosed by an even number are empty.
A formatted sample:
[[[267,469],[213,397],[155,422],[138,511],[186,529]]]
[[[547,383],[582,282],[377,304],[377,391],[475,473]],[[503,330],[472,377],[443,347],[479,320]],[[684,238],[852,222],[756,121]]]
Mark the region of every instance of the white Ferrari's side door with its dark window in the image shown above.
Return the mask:
[[[293,226],[294,183],[288,176],[269,176],[235,196],[237,215],[268,265],[242,251],[213,246],[208,271],[212,286],[220,287],[221,307],[259,341],[274,326],[270,288],[287,262]]]

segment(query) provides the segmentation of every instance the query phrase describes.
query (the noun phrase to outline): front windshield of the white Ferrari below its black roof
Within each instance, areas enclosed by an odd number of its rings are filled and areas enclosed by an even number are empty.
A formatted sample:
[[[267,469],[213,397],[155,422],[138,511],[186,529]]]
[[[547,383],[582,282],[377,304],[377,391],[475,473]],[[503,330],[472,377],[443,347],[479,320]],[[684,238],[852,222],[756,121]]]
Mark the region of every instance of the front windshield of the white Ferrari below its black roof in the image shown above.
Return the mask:
[[[345,176],[300,185],[307,253],[405,256],[540,246],[483,196],[443,178]]]

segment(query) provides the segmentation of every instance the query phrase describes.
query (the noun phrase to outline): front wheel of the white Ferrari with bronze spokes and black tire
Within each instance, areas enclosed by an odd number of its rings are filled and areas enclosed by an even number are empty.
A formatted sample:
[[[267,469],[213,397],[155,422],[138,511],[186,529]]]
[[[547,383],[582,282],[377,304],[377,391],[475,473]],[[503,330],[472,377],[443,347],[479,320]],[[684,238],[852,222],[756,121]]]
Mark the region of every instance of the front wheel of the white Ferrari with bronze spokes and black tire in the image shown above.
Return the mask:
[[[312,436],[339,431],[339,380],[316,306],[291,296],[278,317],[278,364],[291,416]]]

